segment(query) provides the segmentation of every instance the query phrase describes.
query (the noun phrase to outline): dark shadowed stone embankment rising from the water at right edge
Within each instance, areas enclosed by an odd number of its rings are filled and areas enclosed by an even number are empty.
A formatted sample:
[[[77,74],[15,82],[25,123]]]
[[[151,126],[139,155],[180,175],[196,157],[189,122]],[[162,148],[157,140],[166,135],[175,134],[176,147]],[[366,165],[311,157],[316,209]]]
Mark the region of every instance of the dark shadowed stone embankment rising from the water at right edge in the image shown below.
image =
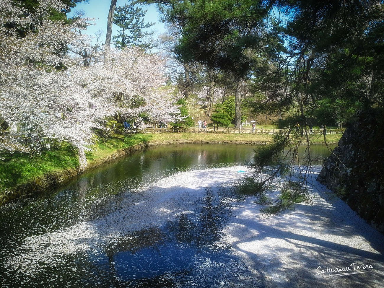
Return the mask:
[[[371,110],[348,127],[318,180],[384,232],[384,119]]]

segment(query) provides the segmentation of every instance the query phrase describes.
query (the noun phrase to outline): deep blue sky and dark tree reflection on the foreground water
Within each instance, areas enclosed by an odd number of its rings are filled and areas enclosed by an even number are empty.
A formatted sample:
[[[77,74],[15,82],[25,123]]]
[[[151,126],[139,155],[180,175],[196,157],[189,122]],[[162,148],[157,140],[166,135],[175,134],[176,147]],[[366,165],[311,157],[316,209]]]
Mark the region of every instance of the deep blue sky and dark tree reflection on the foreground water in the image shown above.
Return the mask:
[[[223,271],[215,263],[235,262],[218,242],[229,215],[228,201],[208,189],[200,211],[179,214],[161,227],[135,231],[109,243],[110,270],[121,283],[137,287],[173,287],[192,281],[201,281],[201,287],[214,285],[223,280]],[[206,261],[210,269],[200,271],[197,262]],[[228,281],[228,272],[238,271],[226,272]],[[207,282],[207,277],[212,279]]]

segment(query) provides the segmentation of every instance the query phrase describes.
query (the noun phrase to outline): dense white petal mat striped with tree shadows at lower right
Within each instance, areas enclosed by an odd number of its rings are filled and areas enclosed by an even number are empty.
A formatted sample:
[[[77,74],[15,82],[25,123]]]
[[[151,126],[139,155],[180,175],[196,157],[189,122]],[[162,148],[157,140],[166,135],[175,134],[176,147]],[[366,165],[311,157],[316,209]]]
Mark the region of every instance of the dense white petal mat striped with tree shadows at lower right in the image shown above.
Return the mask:
[[[357,215],[344,219],[348,206],[339,210],[319,197],[313,200],[313,206],[296,205],[295,211],[268,219],[258,218],[260,207],[250,199],[236,205],[236,217],[225,229],[234,253],[263,279],[261,287],[381,287],[384,237]],[[343,268],[355,262],[374,269],[341,277],[316,273],[318,266]]]

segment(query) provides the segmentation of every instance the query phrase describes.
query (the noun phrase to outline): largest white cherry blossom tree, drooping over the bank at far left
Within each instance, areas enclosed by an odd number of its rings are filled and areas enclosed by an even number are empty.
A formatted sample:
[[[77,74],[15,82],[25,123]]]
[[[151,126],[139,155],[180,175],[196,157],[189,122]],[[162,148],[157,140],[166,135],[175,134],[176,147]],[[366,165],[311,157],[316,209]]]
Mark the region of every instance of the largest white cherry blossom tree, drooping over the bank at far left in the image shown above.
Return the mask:
[[[78,36],[77,24],[49,20],[51,9],[65,8],[57,0],[41,0],[35,14],[16,4],[0,0],[2,23],[12,24],[0,27],[0,149],[38,153],[50,140],[68,141],[84,165],[97,110],[89,108],[95,99],[78,89],[82,78],[63,52]],[[28,31],[30,26],[38,29]],[[23,37],[20,29],[26,31]]]

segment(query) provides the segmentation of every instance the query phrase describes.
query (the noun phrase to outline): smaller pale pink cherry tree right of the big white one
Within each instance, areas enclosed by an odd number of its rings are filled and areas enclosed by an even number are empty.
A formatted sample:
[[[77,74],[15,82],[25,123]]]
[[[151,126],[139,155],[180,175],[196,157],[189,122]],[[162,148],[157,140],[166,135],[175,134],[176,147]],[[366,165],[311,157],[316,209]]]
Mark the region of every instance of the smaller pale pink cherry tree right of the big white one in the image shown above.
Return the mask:
[[[111,49],[109,55],[109,62],[104,67],[94,67],[94,74],[110,75],[108,79],[99,76],[98,83],[118,96],[116,103],[121,115],[135,122],[140,122],[138,118],[143,113],[149,122],[172,122],[177,118],[179,109],[172,103],[180,95],[165,85],[164,57],[144,53],[141,48]],[[142,127],[147,125],[143,123]]]

